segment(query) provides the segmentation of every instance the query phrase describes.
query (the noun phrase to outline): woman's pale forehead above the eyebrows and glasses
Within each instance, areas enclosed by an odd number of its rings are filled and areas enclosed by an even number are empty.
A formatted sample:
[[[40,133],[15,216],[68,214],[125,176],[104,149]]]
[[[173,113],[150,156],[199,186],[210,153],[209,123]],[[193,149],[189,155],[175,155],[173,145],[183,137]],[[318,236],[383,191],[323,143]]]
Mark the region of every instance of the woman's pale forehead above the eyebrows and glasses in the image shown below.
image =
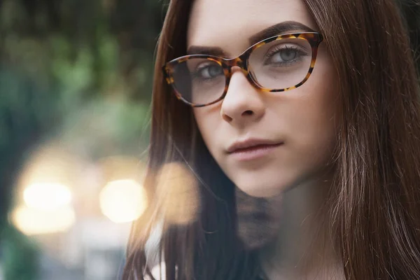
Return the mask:
[[[195,0],[187,45],[220,47],[238,55],[249,46],[248,37],[286,21],[317,29],[303,0]]]

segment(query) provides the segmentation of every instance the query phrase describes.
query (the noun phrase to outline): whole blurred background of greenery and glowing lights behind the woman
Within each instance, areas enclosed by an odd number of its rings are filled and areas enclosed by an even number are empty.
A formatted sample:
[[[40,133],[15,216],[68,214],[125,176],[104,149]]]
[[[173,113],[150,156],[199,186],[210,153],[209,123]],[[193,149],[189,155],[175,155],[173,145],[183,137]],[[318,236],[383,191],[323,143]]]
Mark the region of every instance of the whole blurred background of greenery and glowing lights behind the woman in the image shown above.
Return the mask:
[[[400,3],[418,50],[419,4]],[[148,204],[166,7],[0,0],[0,280],[118,279],[130,222]]]

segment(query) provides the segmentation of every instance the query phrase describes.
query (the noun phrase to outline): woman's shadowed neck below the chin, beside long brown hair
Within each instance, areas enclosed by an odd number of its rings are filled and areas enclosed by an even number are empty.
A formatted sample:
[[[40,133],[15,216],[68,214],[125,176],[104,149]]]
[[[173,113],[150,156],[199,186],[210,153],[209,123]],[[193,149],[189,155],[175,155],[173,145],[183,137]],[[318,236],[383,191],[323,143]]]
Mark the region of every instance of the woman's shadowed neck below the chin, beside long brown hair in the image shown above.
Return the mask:
[[[279,233],[260,251],[268,279],[342,279],[324,207],[331,181],[304,183],[283,194]]]

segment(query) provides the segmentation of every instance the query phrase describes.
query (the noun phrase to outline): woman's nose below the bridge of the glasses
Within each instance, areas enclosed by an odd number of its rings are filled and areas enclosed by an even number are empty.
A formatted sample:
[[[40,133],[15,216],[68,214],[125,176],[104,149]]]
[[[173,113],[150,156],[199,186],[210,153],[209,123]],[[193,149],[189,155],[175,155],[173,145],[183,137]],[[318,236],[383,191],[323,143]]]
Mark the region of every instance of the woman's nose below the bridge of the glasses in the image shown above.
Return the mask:
[[[258,122],[265,114],[262,93],[249,83],[239,67],[232,68],[232,71],[228,92],[221,106],[223,120],[239,127]]]

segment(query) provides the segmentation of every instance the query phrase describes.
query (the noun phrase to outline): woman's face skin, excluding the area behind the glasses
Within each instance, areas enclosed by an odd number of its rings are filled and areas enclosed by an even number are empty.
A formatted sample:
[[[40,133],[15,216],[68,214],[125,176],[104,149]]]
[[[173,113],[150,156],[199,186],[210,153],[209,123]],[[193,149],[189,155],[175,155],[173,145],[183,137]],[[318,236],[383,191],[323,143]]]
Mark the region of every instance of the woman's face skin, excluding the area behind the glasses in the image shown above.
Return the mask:
[[[268,38],[311,29],[317,31],[316,24],[300,0],[195,0],[188,52],[217,48],[223,57],[236,57],[264,32]],[[290,55],[283,52],[278,59]],[[309,80],[290,91],[262,92],[238,67],[232,71],[225,99],[194,109],[204,142],[223,172],[255,197],[279,195],[317,179],[335,148],[339,94],[325,44],[318,48]]]

